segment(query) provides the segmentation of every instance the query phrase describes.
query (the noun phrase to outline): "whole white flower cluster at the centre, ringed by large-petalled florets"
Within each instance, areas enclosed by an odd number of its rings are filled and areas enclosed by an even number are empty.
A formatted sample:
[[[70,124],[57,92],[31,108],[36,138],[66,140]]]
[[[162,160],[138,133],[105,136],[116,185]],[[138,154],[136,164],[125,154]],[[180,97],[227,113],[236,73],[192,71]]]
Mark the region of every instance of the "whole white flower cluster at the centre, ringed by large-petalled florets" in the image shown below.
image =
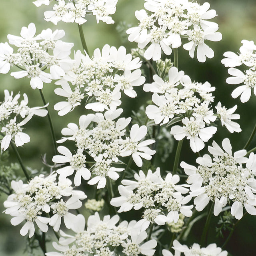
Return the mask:
[[[118,118],[123,112],[121,108],[104,113],[82,115],[79,118],[78,127],[74,123],[68,124],[67,128],[62,129],[64,136],[59,143],[66,140],[73,140],[76,142],[78,148],[77,154],[72,155],[70,150],[64,146],[58,147],[58,152],[62,155],[57,155],[52,158],[55,163],[70,163],[57,170],[60,176],[67,177],[76,171],[74,177],[75,186],[81,184],[81,177],[84,180],[90,179],[91,172],[94,174],[88,184],[94,185],[98,183],[97,188],[104,188],[106,186],[106,177],[112,180],[117,180],[119,174],[124,168],[116,168],[112,166],[112,162],[118,162],[120,156],[130,156],[134,162],[141,167],[142,159],[150,160],[152,155],[156,152],[147,146],[154,143],[154,140],[142,140],[147,134],[146,126],[139,127],[134,124],[130,131],[130,137],[125,136],[125,128],[131,121],[131,118]],[[91,122],[95,122],[96,126],[90,129],[88,126]],[[86,155],[84,150],[94,158],[95,164],[88,170],[86,168]]]

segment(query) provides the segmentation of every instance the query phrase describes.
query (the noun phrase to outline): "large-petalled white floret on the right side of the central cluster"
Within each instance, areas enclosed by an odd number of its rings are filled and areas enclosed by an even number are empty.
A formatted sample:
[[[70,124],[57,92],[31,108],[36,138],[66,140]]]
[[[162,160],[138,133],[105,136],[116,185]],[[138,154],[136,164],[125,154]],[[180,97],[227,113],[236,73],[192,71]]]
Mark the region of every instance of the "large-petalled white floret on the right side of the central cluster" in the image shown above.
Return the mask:
[[[121,156],[130,156],[138,167],[142,166],[142,159],[150,160],[152,155],[156,153],[156,150],[151,150],[147,146],[154,143],[155,140],[142,140],[148,132],[148,129],[145,125],[138,126],[134,124],[130,131],[130,138],[126,138],[124,148],[121,151]]]

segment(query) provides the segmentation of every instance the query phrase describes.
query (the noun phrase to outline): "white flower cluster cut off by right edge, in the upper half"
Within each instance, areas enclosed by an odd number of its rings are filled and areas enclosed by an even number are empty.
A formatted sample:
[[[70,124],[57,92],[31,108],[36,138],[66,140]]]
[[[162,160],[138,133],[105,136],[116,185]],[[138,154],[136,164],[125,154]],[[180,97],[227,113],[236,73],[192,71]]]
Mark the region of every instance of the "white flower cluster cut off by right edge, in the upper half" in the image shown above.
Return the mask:
[[[226,79],[228,84],[242,84],[238,86],[231,94],[235,99],[240,96],[241,102],[247,102],[252,94],[256,95],[256,45],[253,41],[242,40],[240,53],[225,52],[221,63],[225,67],[229,67],[228,74],[231,76]],[[244,64],[246,66],[245,72],[234,68]],[[248,69],[247,69],[248,68]]]

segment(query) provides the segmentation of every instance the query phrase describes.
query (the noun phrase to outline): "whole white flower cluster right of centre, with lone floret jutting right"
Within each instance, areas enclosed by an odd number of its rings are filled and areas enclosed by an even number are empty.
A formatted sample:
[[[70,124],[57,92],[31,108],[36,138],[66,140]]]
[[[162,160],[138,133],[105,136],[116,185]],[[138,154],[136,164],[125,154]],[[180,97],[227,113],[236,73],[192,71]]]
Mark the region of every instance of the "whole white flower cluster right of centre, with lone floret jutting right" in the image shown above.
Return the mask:
[[[219,102],[216,106],[217,113],[211,109],[215,87],[210,83],[204,84],[192,82],[190,77],[184,75],[184,71],[172,67],[169,79],[164,81],[160,76],[154,75],[152,84],[144,84],[143,90],[153,92],[152,102],[155,105],[146,107],[146,115],[154,120],[155,124],[167,124],[173,118],[179,118],[183,126],[172,126],[170,133],[176,140],[185,137],[190,140],[190,147],[194,152],[204,148],[204,142],[208,142],[217,128],[211,123],[216,121],[216,116],[221,120],[222,126],[231,132],[241,132],[240,125],[232,121],[239,119],[238,114],[233,114],[236,106],[226,109]]]

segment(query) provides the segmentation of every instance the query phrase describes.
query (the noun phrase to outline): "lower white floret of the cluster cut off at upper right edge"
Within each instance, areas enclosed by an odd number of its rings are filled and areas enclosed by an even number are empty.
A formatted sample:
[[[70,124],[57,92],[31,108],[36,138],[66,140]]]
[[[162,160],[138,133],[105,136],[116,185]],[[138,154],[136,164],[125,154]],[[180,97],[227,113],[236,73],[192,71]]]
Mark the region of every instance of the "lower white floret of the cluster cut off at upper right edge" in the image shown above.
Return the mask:
[[[251,97],[251,88],[253,89],[254,94],[256,95],[256,72],[255,70],[248,69],[246,74],[237,68],[229,68],[228,74],[231,77],[226,79],[228,84],[241,84],[238,86],[231,94],[232,98],[236,99],[241,95],[240,100],[242,103],[247,102]],[[233,76],[233,77],[232,77]]]

